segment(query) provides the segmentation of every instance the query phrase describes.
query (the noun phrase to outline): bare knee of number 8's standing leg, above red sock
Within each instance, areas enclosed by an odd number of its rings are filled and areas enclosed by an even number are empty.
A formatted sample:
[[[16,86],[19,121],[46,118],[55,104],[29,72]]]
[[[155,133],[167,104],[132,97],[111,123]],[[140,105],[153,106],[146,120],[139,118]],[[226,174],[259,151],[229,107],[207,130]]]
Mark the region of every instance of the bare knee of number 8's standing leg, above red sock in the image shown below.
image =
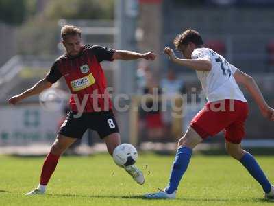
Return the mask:
[[[53,155],[62,155],[62,153],[76,140],[76,138],[66,137],[58,133],[53,145],[51,146],[51,153],[53,153]]]

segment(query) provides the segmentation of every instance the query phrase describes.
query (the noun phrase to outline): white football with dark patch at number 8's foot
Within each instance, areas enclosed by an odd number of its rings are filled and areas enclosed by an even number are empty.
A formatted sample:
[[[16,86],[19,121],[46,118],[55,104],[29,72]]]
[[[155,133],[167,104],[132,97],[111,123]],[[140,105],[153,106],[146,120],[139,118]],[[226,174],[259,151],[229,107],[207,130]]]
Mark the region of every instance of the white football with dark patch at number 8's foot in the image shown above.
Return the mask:
[[[124,143],[114,149],[112,157],[116,165],[120,167],[129,166],[136,162],[138,152],[133,145]]]

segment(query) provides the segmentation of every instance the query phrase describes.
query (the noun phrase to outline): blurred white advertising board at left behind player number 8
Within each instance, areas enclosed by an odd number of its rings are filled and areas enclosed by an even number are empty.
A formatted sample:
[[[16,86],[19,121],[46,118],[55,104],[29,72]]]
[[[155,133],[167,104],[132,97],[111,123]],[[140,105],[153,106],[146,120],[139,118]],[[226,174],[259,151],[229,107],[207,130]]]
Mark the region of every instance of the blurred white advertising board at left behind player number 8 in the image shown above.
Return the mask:
[[[62,113],[29,104],[2,106],[0,117],[0,146],[49,145],[55,139]]]

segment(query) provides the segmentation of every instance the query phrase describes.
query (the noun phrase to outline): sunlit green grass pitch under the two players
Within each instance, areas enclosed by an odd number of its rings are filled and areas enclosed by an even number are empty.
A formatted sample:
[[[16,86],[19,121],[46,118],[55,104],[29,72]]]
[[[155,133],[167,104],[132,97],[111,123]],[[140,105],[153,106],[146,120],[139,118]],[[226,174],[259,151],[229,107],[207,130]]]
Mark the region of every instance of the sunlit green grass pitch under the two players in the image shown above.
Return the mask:
[[[43,157],[0,156],[0,205],[274,205],[262,189],[227,156],[194,155],[175,200],[146,200],[142,194],[164,187],[173,156],[140,155],[146,174],[138,185],[106,154],[62,157],[45,196],[24,196],[38,184]],[[274,157],[257,156],[274,181]],[[147,168],[146,168],[147,165]],[[148,173],[150,173],[148,175]]]

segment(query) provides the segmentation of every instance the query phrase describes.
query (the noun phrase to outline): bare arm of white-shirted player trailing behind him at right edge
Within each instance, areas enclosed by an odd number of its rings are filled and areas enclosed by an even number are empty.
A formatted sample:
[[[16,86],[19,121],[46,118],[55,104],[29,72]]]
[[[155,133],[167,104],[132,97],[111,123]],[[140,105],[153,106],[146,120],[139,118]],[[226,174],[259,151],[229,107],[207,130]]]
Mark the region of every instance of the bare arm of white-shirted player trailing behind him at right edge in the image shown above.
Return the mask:
[[[245,87],[247,88],[247,91],[249,91],[249,93],[255,100],[256,104],[260,108],[262,115],[274,121],[274,109],[271,108],[264,100],[264,97],[258,85],[256,84],[256,81],[251,76],[240,71],[239,69],[237,69],[236,72],[234,73],[234,78],[236,82],[245,85]]]

